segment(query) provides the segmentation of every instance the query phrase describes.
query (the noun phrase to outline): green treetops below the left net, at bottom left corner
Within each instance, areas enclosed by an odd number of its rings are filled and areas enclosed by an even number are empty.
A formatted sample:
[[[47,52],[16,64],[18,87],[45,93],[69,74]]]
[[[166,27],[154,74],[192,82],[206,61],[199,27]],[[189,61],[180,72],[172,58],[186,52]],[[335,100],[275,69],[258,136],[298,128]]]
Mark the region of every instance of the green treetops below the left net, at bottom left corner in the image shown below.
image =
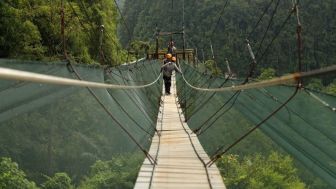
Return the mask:
[[[131,156],[132,158],[126,158]],[[72,184],[66,173],[55,173],[46,176],[41,189],[105,189],[105,188],[133,188],[141,162],[142,154],[119,154],[111,160],[98,160],[91,166],[90,173],[78,187]],[[38,189],[34,182],[26,178],[26,174],[19,169],[17,163],[10,158],[0,161],[0,188],[2,189]]]

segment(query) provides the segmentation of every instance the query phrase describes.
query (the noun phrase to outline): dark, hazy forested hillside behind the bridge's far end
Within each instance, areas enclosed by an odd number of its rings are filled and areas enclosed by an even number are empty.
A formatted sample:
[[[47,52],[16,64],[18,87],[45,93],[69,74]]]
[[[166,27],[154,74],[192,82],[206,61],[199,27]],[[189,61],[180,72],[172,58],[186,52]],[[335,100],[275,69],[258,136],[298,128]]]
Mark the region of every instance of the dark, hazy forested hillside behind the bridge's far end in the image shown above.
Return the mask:
[[[173,8],[171,8],[171,2],[156,0],[145,2],[128,0],[125,2],[124,15],[136,39],[152,41],[153,44],[155,26],[163,31],[182,29],[183,1],[173,1]],[[270,9],[266,11],[266,15],[253,30],[270,2],[273,2]],[[258,59],[259,68],[256,75],[259,75],[261,68],[273,68],[277,75],[298,69],[295,14],[290,17],[283,28],[281,27],[293,7],[292,1],[280,1],[278,8],[276,8],[277,1],[229,1],[221,19],[218,20],[225,3],[226,1],[185,0],[187,46],[197,48],[201,60],[202,50],[205,53],[205,59],[210,59],[209,57],[212,56],[211,41],[218,67],[225,70],[224,60],[227,58],[233,71],[239,76],[245,76],[250,63],[245,45],[245,39],[248,38]],[[272,19],[274,11],[275,15]],[[336,34],[334,32],[336,21],[333,18],[336,13],[336,2],[334,0],[300,1],[299,11],[303,28],[303,69],[310,70],[334,64],[336,59]],[[216,23],[218,23],[217,27],[215,27]],[[268,25],[270,28],[266,32]],[[121,31],[121,41],[126,44],[129,38],[125,34],[125,30]],[[278,32],[280,35],[273,42],[271,48],[265,51]],[[264,34],[266,34],[265,39],[262,40]],[[165,40],[161,47],[165,46],[169,38],[165,38]],[[177,41],[177,47],[181,48],[180,37],[175,36],[174,40]],[[265,56],[261,58],[264,53]],[[324,78],[323,83],[330,83],[332,78],[333,76]]]

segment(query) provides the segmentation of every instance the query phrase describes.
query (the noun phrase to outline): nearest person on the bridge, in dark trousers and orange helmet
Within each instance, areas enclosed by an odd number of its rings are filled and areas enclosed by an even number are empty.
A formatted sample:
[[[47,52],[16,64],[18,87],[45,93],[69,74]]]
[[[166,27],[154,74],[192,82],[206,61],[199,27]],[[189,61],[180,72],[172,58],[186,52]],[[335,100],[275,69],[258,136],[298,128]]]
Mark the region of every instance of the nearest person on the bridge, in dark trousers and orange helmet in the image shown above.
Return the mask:
[[[182,73],[180,69],[176,66],[176,57],[172,57],[172,61],[161,66],[161,72],[163,72],[163,80],[165,84],[165,92],[167,95],[170,95],[171,87],[171,76],[175,70],[178,73]]]

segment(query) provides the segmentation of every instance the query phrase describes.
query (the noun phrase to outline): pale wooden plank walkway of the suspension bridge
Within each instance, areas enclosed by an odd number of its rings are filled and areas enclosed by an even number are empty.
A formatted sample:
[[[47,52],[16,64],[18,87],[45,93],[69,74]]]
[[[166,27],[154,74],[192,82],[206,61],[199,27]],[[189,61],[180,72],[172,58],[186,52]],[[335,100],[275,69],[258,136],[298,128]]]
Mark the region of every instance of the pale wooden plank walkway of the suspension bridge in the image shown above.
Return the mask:
[[[143,162],[134,188],[225,189],[218,168],[215,164],[210,168],[204,166],[209,161],[208,155],[197,136],[181,121],[184,117],[177,106],[175,79],[171,92],[162,96],[156,126],[161,134],[160,137],[155,134],[149,151],[157,164],[151,165],[147,159]]]

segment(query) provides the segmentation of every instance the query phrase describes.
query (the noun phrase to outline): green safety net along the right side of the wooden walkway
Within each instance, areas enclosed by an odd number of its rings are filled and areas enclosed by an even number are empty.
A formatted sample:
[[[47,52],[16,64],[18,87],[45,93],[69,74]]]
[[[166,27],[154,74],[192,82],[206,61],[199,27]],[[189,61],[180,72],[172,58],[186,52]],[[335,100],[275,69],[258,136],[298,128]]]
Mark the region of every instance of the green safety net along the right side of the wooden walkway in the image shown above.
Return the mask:
[[[181,67],[186,80],[197,87],[216,88],[241,83],[204,74],[189,64],[181,63]],[[188,125],[200,133],[200,142],[209,156],[220,147],[223,151],[234,143],[296,89],[281,85],[244,90],[235,96],[235,92],[202,92],[188,87],[179,74],[177,87]],[[248,154],[280,146],[279,150],[291,154],[330,186],[336,186],[336,112],[332,107],[336,107],[335,96],[301,89],[260,127],[262,132],[252,133],[227,153]]]

